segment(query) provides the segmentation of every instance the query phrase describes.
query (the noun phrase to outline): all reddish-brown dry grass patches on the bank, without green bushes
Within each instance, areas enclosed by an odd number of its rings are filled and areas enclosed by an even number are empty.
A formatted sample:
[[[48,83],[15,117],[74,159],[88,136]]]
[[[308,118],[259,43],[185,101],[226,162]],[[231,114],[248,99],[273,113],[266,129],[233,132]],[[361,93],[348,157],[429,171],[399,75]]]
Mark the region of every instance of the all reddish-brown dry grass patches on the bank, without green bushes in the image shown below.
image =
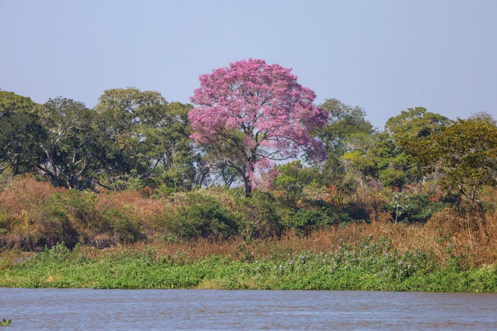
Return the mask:
[[[7,193],[8,199],[1,204],[0,214],[8,214],[10,222],[15,222],[13,231],[7,236],[0,234],[4,244],[9,247],[27,247],[35,249],[37,238],[50,236],[53,224],[42,219],[40,206],[46,204],[50,197],[63,192],[64,189],[53,188],[49,183],[38,182],[29,178],[17,178],[12,189]],[[216,190],[202,190],[198,195],[213,196],[221,199],[228,207],[233,207],[233,198]],[[190,199],[186,201],[187,199]],[[135,222],[143,225],[148,242],[129,246],[116,246],[116,241],[107,234],[87,234],[88,245],[103,248],[113,246],[108,251],[122,249],[144,250],[153,246],[158,256],[172,256],[178,252],[189,259],[199,259],[209,255],[226,255],[232,259],[260,259],[274,254],[311,250],[326,252],[331,246],[338,244],[338,238],[354,245],[361,237],[372,235],[373,238],[387,237],[392,239],[393,246],[399,251],[423,249],[433,252],[440,261],[449,257],[447,248],[457,255],[474,256],[475,265],[493,264],[497,262],[497,212],[489,214],[485,220],[471,215],[462,215],[455,209],[445,209],[432,216],[422,224],[395,224],[388,213],[380,213],[373,208],[372,222],[351,223],[344,227],[333,226],[313,232],[309,237],[300,237],[288,232],[279,238],[244,241],[242,238],[213,242],[199,239],[194,242],[166,243],[156,236],[158,224],[165,213],[187,203],[193,203],[195,195],[176,194],[169,199],[146,199],[139,193],[113,192],[101,193],[98,197],[97,209],[115,207],[132,215]],[[495,201],[495,190],[486,192],[486,199]],[[1,216],[1,215],[0,215]],[[157,230],[159,231],[159,230]],[[159,233],[159,232],[157,232]],[[53,238],[52,240],[56,240]],[[99,254],[98,250],[85,248],[87,254]]]

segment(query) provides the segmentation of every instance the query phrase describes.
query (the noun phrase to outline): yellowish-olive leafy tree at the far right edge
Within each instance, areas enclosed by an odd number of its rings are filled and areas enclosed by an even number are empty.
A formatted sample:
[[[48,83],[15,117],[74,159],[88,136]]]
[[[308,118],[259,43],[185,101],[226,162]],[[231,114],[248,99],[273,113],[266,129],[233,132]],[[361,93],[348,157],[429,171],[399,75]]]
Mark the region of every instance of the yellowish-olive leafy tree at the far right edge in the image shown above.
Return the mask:
[[[485,209],[482,188],[497,184],[497,126],[482,119],[459,119],[426,138],[406,140],[424,174],[442,173],[446,192]]]

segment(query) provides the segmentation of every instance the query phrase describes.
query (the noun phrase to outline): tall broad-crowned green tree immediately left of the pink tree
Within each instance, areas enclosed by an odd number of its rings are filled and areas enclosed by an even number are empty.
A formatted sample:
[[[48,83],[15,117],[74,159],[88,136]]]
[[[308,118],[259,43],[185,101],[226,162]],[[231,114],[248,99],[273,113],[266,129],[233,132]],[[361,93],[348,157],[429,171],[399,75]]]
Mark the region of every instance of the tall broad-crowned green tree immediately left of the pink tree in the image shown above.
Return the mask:
[[[125,188],[133,179],[176,191],[191,189],[196,175],[195,153],[188,138],[191,107],[167,103],[156,91],[134,87],[104,91],[95,110],[106,155],[107,184]]]

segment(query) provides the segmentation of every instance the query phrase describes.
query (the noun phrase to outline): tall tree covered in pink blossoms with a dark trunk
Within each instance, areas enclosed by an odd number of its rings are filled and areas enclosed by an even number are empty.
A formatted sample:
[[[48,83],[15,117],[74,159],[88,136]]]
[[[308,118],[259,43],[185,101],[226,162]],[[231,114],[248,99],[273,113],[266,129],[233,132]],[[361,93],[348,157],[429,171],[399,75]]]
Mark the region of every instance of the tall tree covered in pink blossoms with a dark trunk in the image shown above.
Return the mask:
[[[314,91],[297,83],[291,69],[263,60],[243,60],[200,75],[188,114],[195,141],[217,162],[236,169],[251,197],[254,173],[274,161],[302,153],[326,158],[312,131],[326,125],[327,113],[313,105]]]

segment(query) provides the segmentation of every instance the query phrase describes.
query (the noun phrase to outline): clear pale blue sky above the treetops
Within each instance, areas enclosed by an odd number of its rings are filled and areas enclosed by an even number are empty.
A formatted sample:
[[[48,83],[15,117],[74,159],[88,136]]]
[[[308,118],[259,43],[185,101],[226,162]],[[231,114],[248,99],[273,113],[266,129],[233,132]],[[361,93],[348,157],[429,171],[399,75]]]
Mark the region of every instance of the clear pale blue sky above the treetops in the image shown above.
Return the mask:
[[[497,117],[497,0],[0,0],[0,31],[0,89],[36,102],[188,102],[199,74],[258,58],[380,128],[415,106]]]

